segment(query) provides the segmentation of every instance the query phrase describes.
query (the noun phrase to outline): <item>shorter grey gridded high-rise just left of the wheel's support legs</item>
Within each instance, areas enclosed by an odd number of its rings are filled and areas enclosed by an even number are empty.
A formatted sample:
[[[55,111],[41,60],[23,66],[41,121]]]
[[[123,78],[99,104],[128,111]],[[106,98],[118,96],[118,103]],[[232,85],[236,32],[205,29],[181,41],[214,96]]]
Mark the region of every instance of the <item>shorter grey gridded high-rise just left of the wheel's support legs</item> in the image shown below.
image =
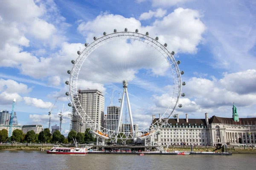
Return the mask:
[[[116,131],[118,125],[118,118],[120,113],[119,106],[108,106],[107,108],[107,118],[105,128],[108,130]]]

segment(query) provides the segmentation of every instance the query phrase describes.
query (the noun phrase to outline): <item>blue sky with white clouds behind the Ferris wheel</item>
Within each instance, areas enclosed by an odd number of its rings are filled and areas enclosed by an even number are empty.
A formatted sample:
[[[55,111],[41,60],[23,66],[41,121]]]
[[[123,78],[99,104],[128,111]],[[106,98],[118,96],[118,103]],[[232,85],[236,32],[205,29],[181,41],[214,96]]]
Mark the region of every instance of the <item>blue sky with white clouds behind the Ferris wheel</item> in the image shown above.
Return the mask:
[[[179,67],[185,71],[182,79],[187,82],[183,87],[186,97],[180,100],[183,108],[176,110],[181,118],[186,113],[189,118],[203,118],[206,112],[209,116],[230,117],[233,102],[240,117],[256,116],[256,3],[253,1],[11,0],[2,4],[0,110],[11,111],[12,100],[16,98],[15,111],[21,125],[38,123],[48,127],[49,106],[59,97],[52,124],[59,124],[57,113],[64,104],[62,131],[67,133],[70,117],[64,94],[68,87],[64,82],[69,79],[70,61],[78,57],[76,51],[84,49],[84,42],[93,42],[93,37],[101,37],[103,31],[111,33],[114,28],[121,31],[125,27],[129,31],[135,28],[143,33],[149,31],[151,37],[160,37],[159,42],[167,42],[169,51],[175,51],[175,59],[181,61]],[[158,65],[152,65],[154,52],[151,52],[145,45],[120,41],[98,48],[87,60],[108,63],[105,69],[116,73],[119,70],[115,70],[109,59],[124,59],[116,65],[134,59],[139,72],[130,74],[154,75],[149,78],[158,80],[155,89],[130,87],[134,122],[142,127],[150,123],[152,114],[166,109],[169,95],[156,90],[170,82],[165,81],[168,75],[154,72]],[[84,67],[82,71],[96,75],[97,67]],[[83,79],[90,80],[86,76]],[[97,81],[93,79],[91,86],[96,87],[99,82],[107,85],[106,79]],[[107,87],[105,107],[113,90],[112,86]],[[115,105],[120,89],[114,93]]]

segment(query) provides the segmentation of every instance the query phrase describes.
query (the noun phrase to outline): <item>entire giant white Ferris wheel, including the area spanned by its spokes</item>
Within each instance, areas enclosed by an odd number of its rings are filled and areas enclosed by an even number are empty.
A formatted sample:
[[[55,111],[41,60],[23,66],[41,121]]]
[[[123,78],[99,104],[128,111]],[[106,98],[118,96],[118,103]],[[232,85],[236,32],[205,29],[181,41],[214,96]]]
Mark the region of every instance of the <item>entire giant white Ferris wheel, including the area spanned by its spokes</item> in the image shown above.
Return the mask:
[[[77,51],[77,59],[71,61],[73,68],[67,71],[70,80],[66,81],[66,95],[70,96],[68,105],[76,110],[81,126],[87,125],[90,133],[112,142],[136,141],[159,133],[159,123],[166,124],[175,108],[182,107],[179,99],[185,94],[181,93],[181,86],[186,82],[181,81],[184,71],[180,71],[174,51],[169,52],[167,43],[158,40],[159,37],[152,38],[148,32],[141,34],[138,29],[114,29],[111,34],[104,32],[102,37],[93,37],[92,43],[85,43],[85,48]],[[85,111],[79,89],[97,89],[112,97],[112,102],[113,97],[120,96],[119,102],[113,103],[120,107],[115,129],[103,127]],[[161,119],[147,122],[154,113],[161,113]],[[134,127],[136,123],[139,129],[122,131],[122,124]]]

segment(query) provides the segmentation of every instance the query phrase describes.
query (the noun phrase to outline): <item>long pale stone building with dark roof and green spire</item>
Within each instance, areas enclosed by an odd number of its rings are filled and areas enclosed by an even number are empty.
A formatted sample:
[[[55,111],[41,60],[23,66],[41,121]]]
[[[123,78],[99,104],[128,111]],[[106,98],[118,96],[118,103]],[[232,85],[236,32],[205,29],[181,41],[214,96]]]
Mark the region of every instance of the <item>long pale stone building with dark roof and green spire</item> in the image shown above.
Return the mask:
[[[212,116],[204,119],[168,119],[166,124],[163,119],[157,125],[152,125],[151,130],[160,126],[160,133],[151,136],[153,145],[197,145],[216,146],[223,144],[250,145],[256,144],[256,118],[239,118],[235,104],[233,105],[232,118]],[[152,116],[152,124],[159,118]]]

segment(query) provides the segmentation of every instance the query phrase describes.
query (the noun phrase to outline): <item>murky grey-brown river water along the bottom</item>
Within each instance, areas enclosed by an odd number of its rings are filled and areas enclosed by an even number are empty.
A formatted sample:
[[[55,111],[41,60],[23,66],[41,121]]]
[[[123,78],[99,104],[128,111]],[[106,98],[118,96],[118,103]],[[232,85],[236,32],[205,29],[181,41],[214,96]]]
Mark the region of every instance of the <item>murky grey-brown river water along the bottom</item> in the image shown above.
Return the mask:
[[[256,170],[256,154],[58,155],[43,151],[0,150],[0,170]]]

